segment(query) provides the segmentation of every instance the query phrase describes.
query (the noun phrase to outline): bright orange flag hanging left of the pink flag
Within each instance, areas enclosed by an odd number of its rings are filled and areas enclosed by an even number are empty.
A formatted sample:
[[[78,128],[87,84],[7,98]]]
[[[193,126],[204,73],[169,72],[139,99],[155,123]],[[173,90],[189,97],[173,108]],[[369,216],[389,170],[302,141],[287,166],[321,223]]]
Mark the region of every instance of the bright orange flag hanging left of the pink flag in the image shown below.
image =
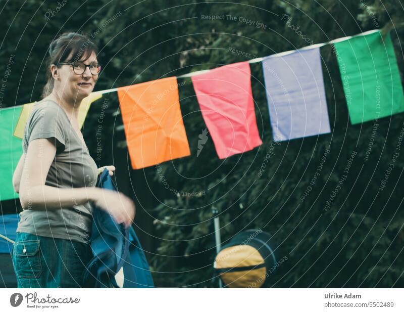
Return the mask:
[[[118,88],[132,168],[190,155],[176,77]]]

